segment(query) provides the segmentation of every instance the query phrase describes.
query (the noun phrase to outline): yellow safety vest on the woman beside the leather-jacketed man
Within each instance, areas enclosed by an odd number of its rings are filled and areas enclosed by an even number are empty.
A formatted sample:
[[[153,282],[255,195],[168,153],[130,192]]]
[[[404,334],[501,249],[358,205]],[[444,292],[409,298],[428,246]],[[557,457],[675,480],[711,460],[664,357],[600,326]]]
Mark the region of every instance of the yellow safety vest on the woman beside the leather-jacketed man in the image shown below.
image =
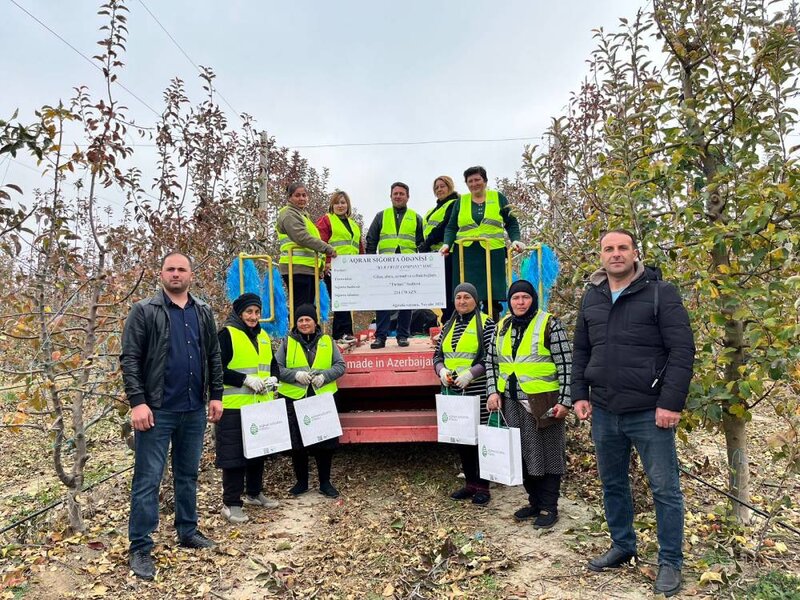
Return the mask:
[[[254,375],[261,379],[269,377],[269,365],[272,362],[272,345],[269,336],[262,329],[258,332],[258,350],[253,346],[253,342],[247,334],[236,327],[227,325],[225,327],[231,334],[231,346],[233,347],[233,357],[228,363],[228,368],[238,371],[244,375]],[[268,402],[272,400],[273,392],[266,394],[256,394],[249,387],[236,387],[233,385],[223,386],[222,408],[241,408],[247,404],[256,402]]]

